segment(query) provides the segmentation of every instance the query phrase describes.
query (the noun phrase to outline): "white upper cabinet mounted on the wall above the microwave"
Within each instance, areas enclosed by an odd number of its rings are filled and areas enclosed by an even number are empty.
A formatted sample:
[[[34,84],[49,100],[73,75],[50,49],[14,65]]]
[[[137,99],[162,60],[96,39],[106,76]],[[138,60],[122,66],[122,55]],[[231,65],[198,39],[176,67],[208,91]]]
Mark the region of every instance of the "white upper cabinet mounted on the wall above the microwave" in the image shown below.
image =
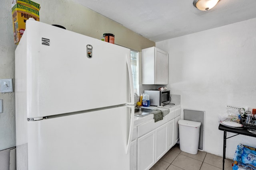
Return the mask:
[[[142,49],[142,84],[168,84],[168,53],[156,47]]]

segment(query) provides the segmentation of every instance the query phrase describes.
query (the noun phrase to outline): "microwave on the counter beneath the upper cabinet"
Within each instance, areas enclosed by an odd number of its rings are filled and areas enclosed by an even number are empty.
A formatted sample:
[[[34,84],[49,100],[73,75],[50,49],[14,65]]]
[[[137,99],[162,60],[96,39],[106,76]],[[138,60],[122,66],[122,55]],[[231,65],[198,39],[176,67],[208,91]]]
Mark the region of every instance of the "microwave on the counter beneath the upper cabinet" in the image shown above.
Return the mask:
[[[170,103],[170,90],[144,90],[149,95],[150,106],[164,106]]]

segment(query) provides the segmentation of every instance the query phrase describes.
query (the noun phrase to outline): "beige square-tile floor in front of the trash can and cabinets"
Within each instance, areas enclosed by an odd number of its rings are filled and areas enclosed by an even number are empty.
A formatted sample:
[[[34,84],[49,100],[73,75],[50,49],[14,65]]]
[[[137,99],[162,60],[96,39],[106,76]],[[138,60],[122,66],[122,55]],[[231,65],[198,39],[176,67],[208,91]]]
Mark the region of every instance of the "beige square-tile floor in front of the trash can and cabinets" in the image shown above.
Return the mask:
[[[182,152],[172,147],[150,170],[222,170],[222,157],[202,152]],[[225,159],[225,170],[232,170],[232,160]]]

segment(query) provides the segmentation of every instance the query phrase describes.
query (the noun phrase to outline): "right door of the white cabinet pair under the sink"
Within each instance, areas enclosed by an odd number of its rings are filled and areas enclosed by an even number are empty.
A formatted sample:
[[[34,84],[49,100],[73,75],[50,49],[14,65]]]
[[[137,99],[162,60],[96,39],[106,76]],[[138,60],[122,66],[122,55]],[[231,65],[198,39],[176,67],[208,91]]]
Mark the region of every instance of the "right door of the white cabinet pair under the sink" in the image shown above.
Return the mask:
[[[168,123],[156,129],[156,161],[167,152],[168,144]]]

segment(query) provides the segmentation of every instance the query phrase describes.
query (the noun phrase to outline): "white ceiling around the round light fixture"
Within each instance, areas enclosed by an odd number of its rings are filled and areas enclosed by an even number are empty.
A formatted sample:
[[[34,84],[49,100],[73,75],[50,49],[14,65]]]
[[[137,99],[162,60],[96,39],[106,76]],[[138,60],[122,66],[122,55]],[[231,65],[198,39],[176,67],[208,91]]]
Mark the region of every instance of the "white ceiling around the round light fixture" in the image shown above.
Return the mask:
[[[256,18],[256,0],[220,0],[208,11],[195,8],[193,0],[73,1],[154,42]]]

